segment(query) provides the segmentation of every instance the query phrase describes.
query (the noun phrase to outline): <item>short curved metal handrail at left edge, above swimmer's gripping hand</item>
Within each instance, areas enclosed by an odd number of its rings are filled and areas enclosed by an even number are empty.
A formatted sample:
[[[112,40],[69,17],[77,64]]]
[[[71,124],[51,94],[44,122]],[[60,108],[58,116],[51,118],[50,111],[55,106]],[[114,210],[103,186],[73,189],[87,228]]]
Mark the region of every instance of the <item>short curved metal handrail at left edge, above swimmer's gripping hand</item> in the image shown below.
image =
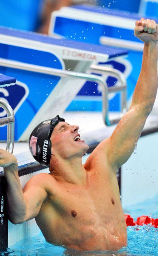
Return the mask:
[[[0,118],[0,125],[7,124],[7,140],[6,140],[6,151],[13,153],[14,148],[14,112],[11,106],[0,99],[0,107],[3,108],[7,117]]]

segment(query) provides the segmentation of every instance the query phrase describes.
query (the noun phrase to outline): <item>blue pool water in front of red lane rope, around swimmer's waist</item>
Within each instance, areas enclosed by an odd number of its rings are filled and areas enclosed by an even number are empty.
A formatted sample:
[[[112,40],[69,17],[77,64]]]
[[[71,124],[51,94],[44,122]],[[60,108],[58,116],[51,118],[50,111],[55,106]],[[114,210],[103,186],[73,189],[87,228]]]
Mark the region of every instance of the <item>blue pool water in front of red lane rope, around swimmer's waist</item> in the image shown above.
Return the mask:
[[[139,230],[137,230],[139,229]],[[42,234],[23,239],[10,248],[11,256],[156,256],[158,255],[158,229],[145,225],[128,227],[128,246],[118,252],[77,252],[47,243]]]

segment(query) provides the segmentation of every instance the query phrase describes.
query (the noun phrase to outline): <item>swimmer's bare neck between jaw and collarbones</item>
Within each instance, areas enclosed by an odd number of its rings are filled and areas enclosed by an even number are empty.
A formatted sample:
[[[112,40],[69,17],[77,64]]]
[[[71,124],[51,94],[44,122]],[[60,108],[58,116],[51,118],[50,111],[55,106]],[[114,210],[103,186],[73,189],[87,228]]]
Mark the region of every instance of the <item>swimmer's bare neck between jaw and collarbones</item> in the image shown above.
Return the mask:
[[[72,184],[86,184],[87,173],[82,165],[82,158],[54,159],[50,161],[49,167],[51,175],[58,181]]]

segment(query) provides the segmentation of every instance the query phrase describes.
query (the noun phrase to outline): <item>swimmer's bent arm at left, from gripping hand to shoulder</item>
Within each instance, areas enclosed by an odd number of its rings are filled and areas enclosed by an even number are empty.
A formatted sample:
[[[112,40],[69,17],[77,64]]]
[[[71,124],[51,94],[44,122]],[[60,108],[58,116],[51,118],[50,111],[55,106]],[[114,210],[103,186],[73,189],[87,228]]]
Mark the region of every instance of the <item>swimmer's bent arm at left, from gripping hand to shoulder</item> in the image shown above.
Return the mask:
[[[41,179],[31,178],[22,191],[16,158],[0,149],[0,166],[4,167],[7,182],[7,208],[11,222],[18,224],[36,217],[47,197]]]

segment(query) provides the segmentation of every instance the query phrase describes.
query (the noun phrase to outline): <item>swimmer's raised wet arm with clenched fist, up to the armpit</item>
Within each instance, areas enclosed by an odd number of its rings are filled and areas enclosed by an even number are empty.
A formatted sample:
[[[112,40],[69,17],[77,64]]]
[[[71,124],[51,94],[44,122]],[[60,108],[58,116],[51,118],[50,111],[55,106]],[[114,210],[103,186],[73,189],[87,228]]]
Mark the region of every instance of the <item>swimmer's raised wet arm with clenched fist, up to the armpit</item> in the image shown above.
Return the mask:
[[[136,22],[135,36],[144,42],[144,50],[132,104],[111,137],[98,146],[98,150],[106,150],[107,159],[115,171],[129,159],[135,149],[157,93],[158,25],[155,21],[142,18]]]

